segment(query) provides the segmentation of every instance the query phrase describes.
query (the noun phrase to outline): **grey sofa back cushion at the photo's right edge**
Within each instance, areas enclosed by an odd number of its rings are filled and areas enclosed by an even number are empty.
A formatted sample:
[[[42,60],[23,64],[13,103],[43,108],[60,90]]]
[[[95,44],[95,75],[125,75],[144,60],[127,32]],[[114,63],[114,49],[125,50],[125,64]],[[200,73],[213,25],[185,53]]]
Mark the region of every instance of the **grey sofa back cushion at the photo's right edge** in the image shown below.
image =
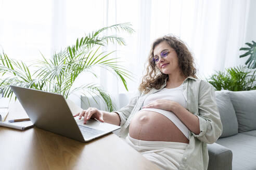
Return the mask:
[[[236,111],[238,132],[256,130],[256,90],[228,91],[228,94]]]

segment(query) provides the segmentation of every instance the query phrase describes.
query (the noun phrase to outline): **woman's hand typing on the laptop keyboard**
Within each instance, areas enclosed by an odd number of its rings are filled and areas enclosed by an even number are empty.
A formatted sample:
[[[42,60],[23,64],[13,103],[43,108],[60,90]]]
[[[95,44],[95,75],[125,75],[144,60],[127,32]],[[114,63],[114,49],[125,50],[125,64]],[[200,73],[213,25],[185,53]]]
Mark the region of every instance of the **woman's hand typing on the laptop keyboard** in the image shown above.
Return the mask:
[[[74,117],[79,116],[79,119],[82,119],[84,117],[84,124],[86,124],[87,120],[91,118],[95,118],[99,120],[100,122],[104,122],[103,120],[103,112],[98,110],[95,107],[89,107],[87,110],[83,110],[80,113],[74,115]]]

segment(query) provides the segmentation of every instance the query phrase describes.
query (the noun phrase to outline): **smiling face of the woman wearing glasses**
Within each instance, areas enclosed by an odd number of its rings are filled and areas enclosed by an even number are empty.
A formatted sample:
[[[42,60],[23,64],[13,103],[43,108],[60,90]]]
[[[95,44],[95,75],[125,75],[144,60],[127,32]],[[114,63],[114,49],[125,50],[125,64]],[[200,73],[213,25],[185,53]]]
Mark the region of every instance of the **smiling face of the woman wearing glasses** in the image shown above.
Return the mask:
[[[162,43],[155,47],[153,55],[157,67],[163,74],[170,75],[180,73],[177,53],[166,41],[162,41]]]

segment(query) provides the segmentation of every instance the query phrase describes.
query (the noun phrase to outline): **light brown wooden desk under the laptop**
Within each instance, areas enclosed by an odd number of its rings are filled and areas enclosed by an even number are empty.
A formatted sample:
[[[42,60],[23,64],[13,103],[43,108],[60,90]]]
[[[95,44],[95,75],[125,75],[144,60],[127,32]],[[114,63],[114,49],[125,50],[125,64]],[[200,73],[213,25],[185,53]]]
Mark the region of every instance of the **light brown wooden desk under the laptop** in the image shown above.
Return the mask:
[[[11,105],[7,120],[27,118]],[[0,169],[158,169],[117,135],[81,143],[37,127],[25,131],[0,126]]]

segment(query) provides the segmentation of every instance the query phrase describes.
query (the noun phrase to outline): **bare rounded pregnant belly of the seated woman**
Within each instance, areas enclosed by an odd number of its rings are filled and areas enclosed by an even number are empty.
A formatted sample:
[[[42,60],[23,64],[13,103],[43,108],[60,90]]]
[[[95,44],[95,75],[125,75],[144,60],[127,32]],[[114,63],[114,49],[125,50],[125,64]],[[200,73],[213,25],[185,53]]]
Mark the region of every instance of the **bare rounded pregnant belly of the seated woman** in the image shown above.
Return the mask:
[[[167,117],[155,111],[139,111],[133,117],[129,135],[147,141],[175,141],[187,143],[188,139]]]

